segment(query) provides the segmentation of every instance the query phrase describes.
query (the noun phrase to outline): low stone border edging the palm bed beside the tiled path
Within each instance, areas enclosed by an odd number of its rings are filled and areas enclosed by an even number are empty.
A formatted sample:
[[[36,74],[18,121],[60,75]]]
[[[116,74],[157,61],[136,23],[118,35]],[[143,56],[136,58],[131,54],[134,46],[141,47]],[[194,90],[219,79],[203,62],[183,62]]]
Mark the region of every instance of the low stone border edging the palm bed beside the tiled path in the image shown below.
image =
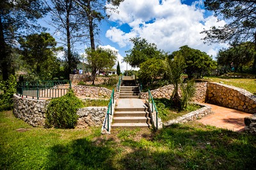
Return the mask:
[[[172,124],[184,124],[189,121],[198,120],[198,118],[202,118],[206,115],[209,115],[212,113],[211,106],[207,106],[204,104],[198,104],[202,106],[199,110],[192,111],[186,115],[183,115],[182,117],[175,118],[173,120],[169,120],[168,122],[164,122],[164,127],[168,127]]]

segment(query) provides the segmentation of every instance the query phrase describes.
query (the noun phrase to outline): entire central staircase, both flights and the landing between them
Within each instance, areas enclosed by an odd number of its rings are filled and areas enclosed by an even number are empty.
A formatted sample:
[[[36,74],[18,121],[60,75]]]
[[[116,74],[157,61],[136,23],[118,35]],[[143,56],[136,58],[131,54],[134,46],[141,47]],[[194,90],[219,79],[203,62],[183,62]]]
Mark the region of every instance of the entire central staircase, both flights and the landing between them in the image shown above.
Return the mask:
[[[138,99],[139,87],[132,77],[125,76],[120,87],[118,104],[115,107],[111,128],[150,127],[148,107]]]

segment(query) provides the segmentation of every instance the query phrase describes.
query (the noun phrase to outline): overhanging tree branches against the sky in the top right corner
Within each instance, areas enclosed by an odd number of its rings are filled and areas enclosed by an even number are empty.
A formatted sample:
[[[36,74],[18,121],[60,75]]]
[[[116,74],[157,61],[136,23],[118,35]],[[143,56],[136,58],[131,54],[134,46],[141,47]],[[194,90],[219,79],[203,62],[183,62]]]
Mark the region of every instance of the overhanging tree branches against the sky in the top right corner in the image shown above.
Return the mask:
[[[236,0],[206,0],[205,9],[214,11],[214,15],[227,20],[223,27],[211,27],[205,30],[205,42],[229,42],[239,45],[250,41],[254,43],[256,51],[256,1]],[[253,73],[256,73],[256,53],[253,57]]]

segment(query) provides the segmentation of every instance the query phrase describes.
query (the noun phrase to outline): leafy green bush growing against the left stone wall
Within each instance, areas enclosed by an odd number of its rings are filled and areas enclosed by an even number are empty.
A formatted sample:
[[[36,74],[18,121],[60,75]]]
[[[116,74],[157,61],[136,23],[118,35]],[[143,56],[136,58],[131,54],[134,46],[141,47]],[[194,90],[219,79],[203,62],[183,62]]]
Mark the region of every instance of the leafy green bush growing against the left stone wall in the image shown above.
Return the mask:
[[[76,111],[79,108],[83,108],[83,102],[70,90],[65,96],[51,99],[47,106],[45,124],[47,127],[61,129],[74,128],[78,118]]]

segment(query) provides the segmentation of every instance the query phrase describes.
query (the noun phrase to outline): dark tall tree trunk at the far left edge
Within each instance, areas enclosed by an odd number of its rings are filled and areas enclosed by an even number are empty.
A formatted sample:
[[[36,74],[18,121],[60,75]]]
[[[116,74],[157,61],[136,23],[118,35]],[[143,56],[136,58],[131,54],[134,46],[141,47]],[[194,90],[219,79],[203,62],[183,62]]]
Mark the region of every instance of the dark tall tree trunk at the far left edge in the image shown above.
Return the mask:
[[[6,52],[6,43],[4,41],[4,32],[3,32],[3,23],[2,17],[0,16],[0,56],[1,59],[1,69],[3,73],[3,80],[8,80],[8,59],[7,59],[7,52]]]

